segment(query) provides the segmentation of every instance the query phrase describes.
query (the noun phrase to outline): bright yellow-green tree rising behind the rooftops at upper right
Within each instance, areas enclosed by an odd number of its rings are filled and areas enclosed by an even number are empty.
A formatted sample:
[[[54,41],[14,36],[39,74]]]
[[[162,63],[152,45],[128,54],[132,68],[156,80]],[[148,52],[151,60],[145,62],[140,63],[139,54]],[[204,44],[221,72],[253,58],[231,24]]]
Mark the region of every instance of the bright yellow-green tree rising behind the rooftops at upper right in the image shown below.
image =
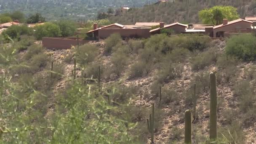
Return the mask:
[[[229,21],[239,19],[239,15],[237,9],[232,6],[214,6],[199,11],[199,18],[204,24],[219,25],[223,19],[228,19]]]

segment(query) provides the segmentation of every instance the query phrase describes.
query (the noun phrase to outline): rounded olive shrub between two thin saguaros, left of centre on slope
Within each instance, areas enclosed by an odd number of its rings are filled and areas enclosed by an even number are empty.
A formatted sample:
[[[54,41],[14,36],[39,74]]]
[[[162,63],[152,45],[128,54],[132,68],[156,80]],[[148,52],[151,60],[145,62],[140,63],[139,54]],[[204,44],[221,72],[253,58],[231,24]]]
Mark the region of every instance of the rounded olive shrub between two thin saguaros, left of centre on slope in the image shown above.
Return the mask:
[[[104,75],[104,66],[100,63],[91,63],[89,64],[86,69],[86,77],[87,78],[93,78],[98,79],[99,77],[99,67],[101,67],[101,77]]]

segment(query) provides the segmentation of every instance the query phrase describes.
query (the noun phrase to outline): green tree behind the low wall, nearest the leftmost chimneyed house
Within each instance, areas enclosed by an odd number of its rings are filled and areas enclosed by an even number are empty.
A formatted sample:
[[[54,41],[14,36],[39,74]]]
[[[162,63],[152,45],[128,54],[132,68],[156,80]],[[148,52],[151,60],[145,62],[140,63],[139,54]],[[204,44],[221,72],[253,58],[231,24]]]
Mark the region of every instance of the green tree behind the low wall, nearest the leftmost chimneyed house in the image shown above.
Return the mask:
[[[76,31],[76,25],[73,21],[60,20],[57,21],[55,24],[57,24],[61,30],[61,37],[72,36]]]

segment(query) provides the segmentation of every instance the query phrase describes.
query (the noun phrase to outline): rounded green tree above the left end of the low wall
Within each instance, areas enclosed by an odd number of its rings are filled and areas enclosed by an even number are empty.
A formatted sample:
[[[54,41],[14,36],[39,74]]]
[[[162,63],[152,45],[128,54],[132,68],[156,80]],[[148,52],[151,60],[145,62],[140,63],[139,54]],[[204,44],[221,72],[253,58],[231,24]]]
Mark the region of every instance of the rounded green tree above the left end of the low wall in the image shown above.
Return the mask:
[[[61,30],[57,24],[46,22],[35,26],[35,37],[37,40],[41,40],[42,37],[59,37],[61,36]]]

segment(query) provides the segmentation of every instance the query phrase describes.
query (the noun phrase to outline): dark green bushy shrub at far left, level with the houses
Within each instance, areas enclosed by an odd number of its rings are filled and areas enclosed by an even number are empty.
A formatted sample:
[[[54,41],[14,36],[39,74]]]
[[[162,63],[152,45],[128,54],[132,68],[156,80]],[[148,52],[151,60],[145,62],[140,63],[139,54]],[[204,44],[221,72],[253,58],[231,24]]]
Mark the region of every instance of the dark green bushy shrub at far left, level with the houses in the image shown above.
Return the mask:
[[[3,35],[6,40],[9,40],[7,36],[11,38],[19,38],[21,35],[32,35],[32,29],[27,27],[27,25],[12,25],[5,31],[3,31]]]

